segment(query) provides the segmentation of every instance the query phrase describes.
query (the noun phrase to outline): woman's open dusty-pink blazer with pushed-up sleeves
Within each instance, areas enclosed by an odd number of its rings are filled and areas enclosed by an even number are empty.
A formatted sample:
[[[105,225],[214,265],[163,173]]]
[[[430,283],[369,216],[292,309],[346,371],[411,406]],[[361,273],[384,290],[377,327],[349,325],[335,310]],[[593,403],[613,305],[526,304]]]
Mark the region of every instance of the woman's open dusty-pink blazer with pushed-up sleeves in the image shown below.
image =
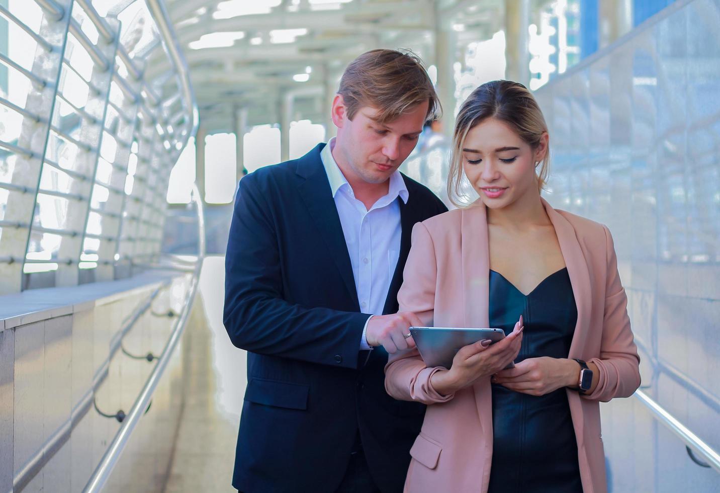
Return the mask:
[[[577,303],[569,357],[592,361],[600,381],[592,394],[567,391],[585,493],[606,492],[600,404],[631,396],[640,385],[639,357],[630,330],[613,240],[606,226],[543,205],[555,228]],[[485,205],[451,210],[418,223],[397,298],[436,327],[488,327]],[[391,355],[385,367],[388,394],[428,404],[423,428],[410,450],[406,492],[487,492],[492,460],[490,378],[442,396],[430,383],[417,350]],[[549,451],[550,452],[550,451]]]

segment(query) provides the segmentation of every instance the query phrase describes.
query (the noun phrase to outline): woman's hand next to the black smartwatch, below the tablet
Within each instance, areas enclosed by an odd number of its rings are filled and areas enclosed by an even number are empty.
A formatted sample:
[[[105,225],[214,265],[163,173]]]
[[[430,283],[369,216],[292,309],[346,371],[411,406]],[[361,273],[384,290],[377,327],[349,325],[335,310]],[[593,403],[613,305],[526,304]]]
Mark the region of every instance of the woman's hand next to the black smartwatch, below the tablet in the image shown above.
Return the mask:
[[[577,386],[580,365],[573,360],[557,357],[529,357],[516,363],[515,368],[500,370],[492,376],[492,383],[531,396],[544,396],[558,388]]]

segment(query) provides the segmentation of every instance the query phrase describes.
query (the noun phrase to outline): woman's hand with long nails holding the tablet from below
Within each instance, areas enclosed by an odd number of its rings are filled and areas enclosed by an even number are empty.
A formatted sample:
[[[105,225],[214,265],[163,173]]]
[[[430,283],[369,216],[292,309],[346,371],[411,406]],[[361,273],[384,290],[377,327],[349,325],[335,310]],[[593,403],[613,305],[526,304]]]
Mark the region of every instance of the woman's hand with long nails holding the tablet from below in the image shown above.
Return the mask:
[[[523,316],[520,316],[513,332],[500,342],[490,345],[490,339],[483,339],[460,348],[449,370],[433,373],[431,385],[438,394],[449,395],[480,377],[494,375],[518,357],[522,341]]]

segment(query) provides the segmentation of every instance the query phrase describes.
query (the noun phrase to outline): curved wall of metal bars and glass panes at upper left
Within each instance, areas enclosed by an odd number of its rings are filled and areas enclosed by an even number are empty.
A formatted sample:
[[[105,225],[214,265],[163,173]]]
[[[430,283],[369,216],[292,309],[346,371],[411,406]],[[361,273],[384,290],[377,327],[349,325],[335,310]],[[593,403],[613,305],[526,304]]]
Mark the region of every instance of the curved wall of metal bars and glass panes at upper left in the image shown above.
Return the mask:
[[[163,15],[161,1],[0,1],[0,294],[157,260],[197,127]]]

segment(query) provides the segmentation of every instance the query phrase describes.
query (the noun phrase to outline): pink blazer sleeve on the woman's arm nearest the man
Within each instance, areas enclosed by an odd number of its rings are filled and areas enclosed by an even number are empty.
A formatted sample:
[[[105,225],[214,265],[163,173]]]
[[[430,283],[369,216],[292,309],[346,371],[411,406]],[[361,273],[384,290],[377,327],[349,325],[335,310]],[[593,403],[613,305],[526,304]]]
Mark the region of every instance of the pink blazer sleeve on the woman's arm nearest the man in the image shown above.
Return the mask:
[[[413,227],[413,246],[402,274],[402,286],[397,293],[400,311],[413,311],[423,324],[433,324],[437,264],[433,239],[423,223]],[[443,396],[433,388],[433,373],[445,368],[427,368],[417,349],[390,355],[385,365],[385,390],[401,401],[423,404],[446,402],[454,394]]]

